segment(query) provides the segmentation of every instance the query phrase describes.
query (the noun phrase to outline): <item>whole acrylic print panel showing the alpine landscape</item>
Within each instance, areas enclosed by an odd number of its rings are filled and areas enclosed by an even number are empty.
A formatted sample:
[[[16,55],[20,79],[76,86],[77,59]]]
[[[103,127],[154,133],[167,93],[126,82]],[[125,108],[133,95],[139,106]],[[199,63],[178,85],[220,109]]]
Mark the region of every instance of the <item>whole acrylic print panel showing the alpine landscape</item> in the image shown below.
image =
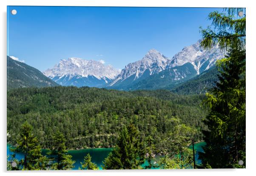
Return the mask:
[[[245,168],[245,8],[7,14],[8,170]]]

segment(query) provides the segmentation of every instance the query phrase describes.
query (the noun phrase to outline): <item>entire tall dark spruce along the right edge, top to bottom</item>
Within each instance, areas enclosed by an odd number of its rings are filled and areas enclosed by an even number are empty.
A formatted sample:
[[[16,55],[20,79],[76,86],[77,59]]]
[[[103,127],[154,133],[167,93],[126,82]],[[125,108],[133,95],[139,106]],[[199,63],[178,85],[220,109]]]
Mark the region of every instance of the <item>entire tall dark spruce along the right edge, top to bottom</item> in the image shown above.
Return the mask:
[[[199,153],[205,168],[245,167],[245,16],[234,15],[244,10],[228,8],[227,13],[210,13],[214,30],[202,30],[202,47],[218,44],[228,50],[226,57],[217,61],[219,82],[206,93],[208,130],[203,133],[207,145],[205,153]],[[238,165],[239,160],[244,165]]]

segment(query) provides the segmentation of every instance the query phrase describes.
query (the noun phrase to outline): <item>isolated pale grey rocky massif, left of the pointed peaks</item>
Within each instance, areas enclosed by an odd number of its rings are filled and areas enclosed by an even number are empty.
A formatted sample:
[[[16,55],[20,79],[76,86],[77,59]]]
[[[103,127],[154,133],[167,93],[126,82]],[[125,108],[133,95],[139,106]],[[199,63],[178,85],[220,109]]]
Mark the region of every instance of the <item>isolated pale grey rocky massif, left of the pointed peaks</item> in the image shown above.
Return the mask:
[[[52,69],[43,71],[43,74],[60,85],[103,87],[114,80],[119,71],[100,61],[68,58],[60,60]]]

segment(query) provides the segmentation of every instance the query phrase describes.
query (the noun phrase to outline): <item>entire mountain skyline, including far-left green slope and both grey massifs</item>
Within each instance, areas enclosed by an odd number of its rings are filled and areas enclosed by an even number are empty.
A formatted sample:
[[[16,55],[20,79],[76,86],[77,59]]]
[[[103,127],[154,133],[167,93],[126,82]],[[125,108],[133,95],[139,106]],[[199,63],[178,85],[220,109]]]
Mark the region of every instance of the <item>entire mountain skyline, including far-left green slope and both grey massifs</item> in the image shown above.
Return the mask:
[[[43,75],[39,70],[7,57],[11,60],[8,64],[9,87],[28,87],[31,82],[32,86],[38,87],[73,85],[125,91],[168,89],[183,94],[202,93],[218,80],[214,63],[224,58],[225,52],[221,52],[217,45],[211,50],[203,50],[200,42],[184,47],[172,58],[151,49],[141,60],[128,63],[121,71],[102,61],[68,58],[43,71]],[[21,71],[21,68],[25,69]],[[16,85],[11,85],[12,82]],[[191,85],[197,89],[186,88]]]

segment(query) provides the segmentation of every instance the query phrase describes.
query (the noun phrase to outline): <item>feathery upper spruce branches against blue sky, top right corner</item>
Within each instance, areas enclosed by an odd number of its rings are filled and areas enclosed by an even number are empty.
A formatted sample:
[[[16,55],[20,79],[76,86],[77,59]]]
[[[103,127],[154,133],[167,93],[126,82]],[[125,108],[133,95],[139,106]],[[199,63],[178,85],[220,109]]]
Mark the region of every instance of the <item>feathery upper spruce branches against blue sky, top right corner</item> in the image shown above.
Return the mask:
[[[246,19],[245,16],[237,18],[234,13],[245,11],[245,9],[228,8],[225,11],[228,11],[228,14],[220,14],[217,11],[209,14],[208,19],[212,20],[212,27],[201,28],[203,38],[201,45],[208,49],[219,44],[222,50],[229,48],[243,50],[245,48]]]

